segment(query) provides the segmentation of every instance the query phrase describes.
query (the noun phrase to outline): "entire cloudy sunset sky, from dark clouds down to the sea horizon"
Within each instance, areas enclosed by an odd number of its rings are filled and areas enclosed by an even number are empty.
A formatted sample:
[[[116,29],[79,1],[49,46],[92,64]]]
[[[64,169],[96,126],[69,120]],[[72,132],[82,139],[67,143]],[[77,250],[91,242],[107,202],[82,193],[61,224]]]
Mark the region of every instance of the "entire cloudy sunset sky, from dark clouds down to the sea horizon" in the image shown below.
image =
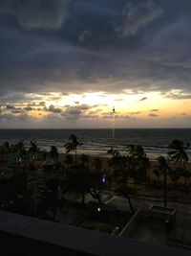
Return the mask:
[[[191,128],[190,0],[0,0],[0,128]]]

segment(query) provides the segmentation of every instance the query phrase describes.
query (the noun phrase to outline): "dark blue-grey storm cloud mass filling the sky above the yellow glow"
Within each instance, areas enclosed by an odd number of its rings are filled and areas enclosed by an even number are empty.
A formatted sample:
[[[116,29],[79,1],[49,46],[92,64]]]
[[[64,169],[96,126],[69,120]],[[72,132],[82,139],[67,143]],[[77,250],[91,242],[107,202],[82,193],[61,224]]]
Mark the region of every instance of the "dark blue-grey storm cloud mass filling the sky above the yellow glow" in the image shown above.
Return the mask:
[[[1,98],[154,88],[188,98],[190,9],[190,0],[1,1]]]

